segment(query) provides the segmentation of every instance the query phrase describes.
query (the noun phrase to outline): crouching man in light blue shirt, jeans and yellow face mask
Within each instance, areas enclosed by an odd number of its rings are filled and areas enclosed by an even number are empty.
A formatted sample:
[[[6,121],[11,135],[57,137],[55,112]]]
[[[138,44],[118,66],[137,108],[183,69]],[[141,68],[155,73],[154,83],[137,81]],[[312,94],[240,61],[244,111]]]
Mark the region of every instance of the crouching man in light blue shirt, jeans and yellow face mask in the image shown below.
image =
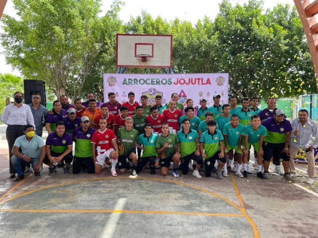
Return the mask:
[[[12,148],[11,161],[18,175],[15,182],[24,179],[21,165],[32,165],[34,176],[40,176],[42,171],[42,161],[46,155],[45,144],[43,139],[35,134],[33,125],[26,125],[23,130],[24,135],[18,137]],[[22,152],[19,152],[21,148]]]

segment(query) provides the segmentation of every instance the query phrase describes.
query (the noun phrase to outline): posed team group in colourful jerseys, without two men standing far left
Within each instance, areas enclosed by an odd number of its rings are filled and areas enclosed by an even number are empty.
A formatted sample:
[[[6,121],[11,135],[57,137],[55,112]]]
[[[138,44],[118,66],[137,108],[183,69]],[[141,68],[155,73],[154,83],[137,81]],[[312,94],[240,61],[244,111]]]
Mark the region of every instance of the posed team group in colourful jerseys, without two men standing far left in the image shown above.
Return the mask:
[[[222,179],[228,172],[235,172],[238,177],[247,178],[252,174],[249,167],[252,146],[258,178],[270,179],[268,169],[273,159],[275,172],[289,181],[294,180],[292,174],[296,173],[291,158],[303,148],[308,159],[307,183],[313,184],[313,150],[318,145],[313,138],[318,137],[318,128],[317,123],[308,119],[307,110],[300,110],[298,119],[290,122],[276,108],[275,98],[268,99],[268,108],[264,110],[258,109],[257,97],[251,101],[243,98],[241,106],[237,106],[235,97],[224,105],[220,104],[220,98],[214,95],[214,104],[209,108],[206,98],[200,99],[200,108],[194,108],[193,101],[187,99],[184,108],[176,93],[164,106],[160,95],[153,106],[148,106],[148,97],[143,95],[140,105],[133,92],[123,104],[116,101],[115,93],[108,94],[107,103],[97,102],[89,93],[87,102],[76,99],[75,105],[62,95],[46,115],[49,135],[45,144],[36,134],[37,125],[26,125],[24,135],[15,140],[11,151],[12,165],[18,175],[15,181],[24,178],[25,166],[31,165],[35,175],[40,176],[42,163],[49,166],[50,176],[57,167],[63,167],[64,175],[69,175],[73,163],[73,174],[82,169],[100,174],[103,168],[111,167],[112,176],[117,176],[116,169],[120,173],[129,169],[136,178],[147,166],[152,175],[160,166],[161,175],[166,176],[172,166],[174,177],[179,177],[178,169],[183,175],[191,169],[193,176],[202,178],[199,170],[204,168],[206,177],[215,172],[216,178]]]

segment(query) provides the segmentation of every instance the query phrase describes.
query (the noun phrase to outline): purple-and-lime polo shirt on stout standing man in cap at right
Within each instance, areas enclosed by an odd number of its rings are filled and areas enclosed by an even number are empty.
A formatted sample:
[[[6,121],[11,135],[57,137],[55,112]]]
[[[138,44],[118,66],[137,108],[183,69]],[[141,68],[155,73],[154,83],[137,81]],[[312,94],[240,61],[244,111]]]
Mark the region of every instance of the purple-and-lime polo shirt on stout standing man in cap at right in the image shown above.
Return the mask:
[[[271,143],[285,143],[286,132],[291,132],[293,130],[290,121],[287,119],[284,119],[277,125],[275,119],[270,118],[263,120],[262,125],[266,127],[267,133],[264,141]]]

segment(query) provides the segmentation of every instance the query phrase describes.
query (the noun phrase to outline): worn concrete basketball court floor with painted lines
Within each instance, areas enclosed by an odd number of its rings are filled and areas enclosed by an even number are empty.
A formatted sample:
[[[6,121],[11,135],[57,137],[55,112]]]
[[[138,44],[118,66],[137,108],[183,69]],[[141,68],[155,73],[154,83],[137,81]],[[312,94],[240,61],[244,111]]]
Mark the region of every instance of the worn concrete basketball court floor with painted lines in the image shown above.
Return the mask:
[[[306,184],[306,165],[297,169],[289,182],[275,173],[218,180],[192,172],[173,178],[171,171],[164,178],[159,170],[138,179],[112,177],[110,169],[65,176],[58,168],[48,176],[44,167],[40,177],[28,172],[14,182],[0,140],[0,237],[316,238],[318,180]]]

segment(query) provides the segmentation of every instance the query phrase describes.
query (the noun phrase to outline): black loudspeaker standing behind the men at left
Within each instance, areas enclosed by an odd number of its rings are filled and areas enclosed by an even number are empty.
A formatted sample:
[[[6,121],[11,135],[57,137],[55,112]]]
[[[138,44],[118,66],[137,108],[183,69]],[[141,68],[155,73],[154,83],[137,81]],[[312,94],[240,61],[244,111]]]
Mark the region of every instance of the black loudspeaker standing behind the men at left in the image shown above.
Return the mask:
[[[41,105],[46,107],[47,92],[45,89],[45,82],[41,80],[24,79],[24,103],[32,103],[32,94],[39,93],[41,95]]]

